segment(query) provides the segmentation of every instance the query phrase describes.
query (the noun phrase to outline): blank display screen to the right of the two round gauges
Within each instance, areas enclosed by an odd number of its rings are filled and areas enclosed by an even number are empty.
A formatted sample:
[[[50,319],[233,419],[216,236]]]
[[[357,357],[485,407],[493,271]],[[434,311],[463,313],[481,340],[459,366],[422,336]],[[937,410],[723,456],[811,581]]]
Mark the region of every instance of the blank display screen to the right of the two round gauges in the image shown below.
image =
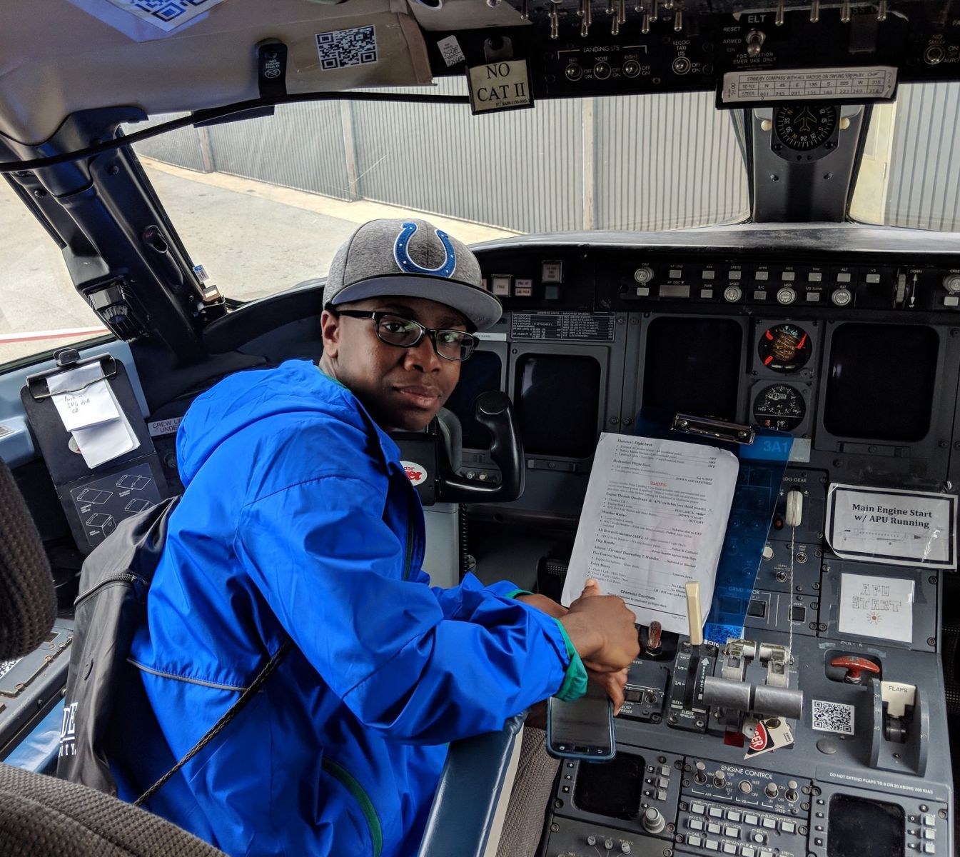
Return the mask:
[[[845,324],[833,331],[824,428],[837,437],[917,441],[930,428],[937,331]]]

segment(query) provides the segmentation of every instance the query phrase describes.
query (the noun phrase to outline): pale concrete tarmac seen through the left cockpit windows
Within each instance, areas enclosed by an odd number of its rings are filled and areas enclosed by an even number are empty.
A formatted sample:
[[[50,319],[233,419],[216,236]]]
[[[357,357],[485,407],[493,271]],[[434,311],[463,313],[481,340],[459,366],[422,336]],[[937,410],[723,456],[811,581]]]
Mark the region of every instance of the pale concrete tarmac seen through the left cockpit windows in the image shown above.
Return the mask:
[[[425,217],[468,244],[515,234],[141,160],[193,262],[204,265],[224,295],[241,301],[324,276],[356,226],[377,217]],[[70,282],[60,249],[6,182],[0,182],[0,265],[0,367],[103,332]]]

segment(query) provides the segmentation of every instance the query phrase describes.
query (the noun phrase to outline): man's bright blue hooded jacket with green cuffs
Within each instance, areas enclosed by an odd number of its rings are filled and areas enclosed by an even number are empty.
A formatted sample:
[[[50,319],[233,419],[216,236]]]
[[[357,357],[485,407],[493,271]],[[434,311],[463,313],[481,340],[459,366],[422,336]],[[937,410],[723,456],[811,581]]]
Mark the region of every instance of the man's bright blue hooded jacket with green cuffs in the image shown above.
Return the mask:
[[[218,383],[177,451],[186,490],[131,654],[156,722],[127,719],[121,796],[172,767],[291,638],[151,809],[231,857],[409,857],[446,742],[582,692],[559,623],[513,584],[429,586],[396,444],[313,363]]]

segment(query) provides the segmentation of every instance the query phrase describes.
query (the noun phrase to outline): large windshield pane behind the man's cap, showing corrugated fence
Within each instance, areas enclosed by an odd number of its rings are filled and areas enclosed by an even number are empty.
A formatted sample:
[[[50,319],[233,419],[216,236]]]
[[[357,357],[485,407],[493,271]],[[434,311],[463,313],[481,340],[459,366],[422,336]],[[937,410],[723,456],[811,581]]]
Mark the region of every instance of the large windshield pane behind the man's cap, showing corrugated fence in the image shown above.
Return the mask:
[[[713,101],[561,99],[485,116],[461,104],[319,102],[135,150],[194,263],[249,300],[324,276],[340,243],[376,217],[420,213],[468,243],[742,221],[746,169],[730,114]]]

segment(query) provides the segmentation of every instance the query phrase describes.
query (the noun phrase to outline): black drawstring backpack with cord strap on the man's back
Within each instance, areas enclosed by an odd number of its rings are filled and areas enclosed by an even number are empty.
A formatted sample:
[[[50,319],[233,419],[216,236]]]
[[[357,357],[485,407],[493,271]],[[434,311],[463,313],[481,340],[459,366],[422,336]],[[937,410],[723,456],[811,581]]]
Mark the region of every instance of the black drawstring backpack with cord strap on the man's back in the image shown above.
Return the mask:
[[[124,694],[130,707],[150,712],[139,673],[127,657],[133,632],[146,620],[147,592],[166,541],[167,523],[179,500],[164,500],[121,521],[86,557],[80,575],[57,775],[112,796],[117,793],[109,760],[114,699]],[[277,650],[223,717],[135,801],[137,805],[223,730],[274,672],[289,648],[288,641]]]

